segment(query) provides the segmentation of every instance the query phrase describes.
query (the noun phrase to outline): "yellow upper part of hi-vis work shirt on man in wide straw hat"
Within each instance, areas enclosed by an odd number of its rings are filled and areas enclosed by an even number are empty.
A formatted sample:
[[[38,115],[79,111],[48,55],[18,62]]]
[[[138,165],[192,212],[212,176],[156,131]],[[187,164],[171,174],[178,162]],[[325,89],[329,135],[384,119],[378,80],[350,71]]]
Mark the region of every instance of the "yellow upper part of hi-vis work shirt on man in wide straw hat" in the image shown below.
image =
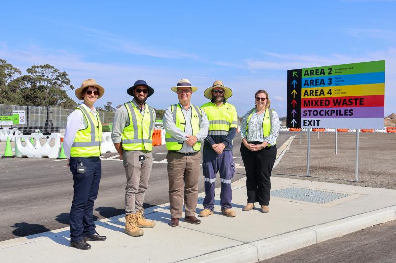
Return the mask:
[[[228,135],[230,128],[237,128],[238,116],[234,105],[224,103],[217,106],[213,102],[205,103],[201,106],[209,120],[208,135]]]

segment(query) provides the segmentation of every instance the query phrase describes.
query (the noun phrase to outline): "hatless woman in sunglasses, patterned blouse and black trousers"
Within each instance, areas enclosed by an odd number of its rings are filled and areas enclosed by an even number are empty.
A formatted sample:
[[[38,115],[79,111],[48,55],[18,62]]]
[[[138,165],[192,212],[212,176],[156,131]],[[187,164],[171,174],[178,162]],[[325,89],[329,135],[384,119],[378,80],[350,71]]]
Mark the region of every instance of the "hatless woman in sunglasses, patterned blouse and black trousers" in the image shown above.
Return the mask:
[[[242,119],[241,157],[246,172],[247,205],[249,211],[254,203],[261,205],[261,212],[269,212],[271,171],[276,158],[276,139],[279,135],[278,114],[270,109],[271,102],[265,90],[255,96],[256,107]]]

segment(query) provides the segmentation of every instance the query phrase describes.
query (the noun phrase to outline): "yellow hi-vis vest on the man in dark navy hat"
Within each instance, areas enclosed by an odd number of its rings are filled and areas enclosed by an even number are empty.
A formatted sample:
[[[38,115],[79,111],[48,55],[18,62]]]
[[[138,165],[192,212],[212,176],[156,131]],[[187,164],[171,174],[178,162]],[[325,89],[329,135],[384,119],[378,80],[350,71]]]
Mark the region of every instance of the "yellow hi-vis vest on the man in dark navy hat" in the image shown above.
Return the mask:
[[[129,125],[121,134],[122,149],[152,151],[152,133],[154,132],[154,109],[146,104],[142,116],[131,101],[124,103],[128,111]]]

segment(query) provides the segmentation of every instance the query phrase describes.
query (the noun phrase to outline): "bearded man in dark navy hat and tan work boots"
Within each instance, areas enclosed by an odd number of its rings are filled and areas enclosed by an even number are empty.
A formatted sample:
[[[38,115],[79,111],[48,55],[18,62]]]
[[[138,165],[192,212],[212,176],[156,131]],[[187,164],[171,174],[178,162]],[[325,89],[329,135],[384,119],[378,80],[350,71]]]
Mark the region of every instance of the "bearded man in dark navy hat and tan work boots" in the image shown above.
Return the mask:
[[[146,100],[154,93],[146,81],[137,80],[127,90],[133,100],[124,103],[114,115],[111,139],[125,168],[125,230],[130,236],[142,236],[140,228],[152,228],[155,222],[143,214],[143,200],[152,169],[152,134],[155,111]]]

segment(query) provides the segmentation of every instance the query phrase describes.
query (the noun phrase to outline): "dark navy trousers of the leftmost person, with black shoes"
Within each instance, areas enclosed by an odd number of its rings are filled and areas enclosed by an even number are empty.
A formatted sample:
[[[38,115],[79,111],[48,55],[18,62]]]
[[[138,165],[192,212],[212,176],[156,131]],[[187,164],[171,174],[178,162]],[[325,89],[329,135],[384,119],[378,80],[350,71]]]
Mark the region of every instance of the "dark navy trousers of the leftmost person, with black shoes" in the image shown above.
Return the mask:
[[[78,166],[87,167],[87,171],[77,173]],[[74,181],[74,195],[70,209],[70,241],[77,242],[95,234],[92,213],[102,174],[100,158],[70,157],[70,171],[73,173]]]

